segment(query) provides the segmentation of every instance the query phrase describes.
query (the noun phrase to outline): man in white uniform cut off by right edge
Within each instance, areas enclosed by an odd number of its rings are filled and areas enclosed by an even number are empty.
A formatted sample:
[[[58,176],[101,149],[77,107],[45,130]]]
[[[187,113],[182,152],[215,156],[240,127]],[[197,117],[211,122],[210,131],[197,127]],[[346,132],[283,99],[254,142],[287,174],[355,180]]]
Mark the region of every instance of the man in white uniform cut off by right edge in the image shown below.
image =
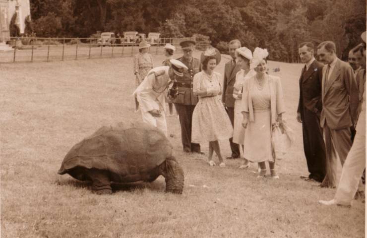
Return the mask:
[[[362,33],[363,58],[362,65],[366,69],[366,32]],[[366,77],[366,71],[363,73]],[[366,80],[365,80],[366,81]],[[347,159],[343,165],[342,175],[334,199],[330,201],[319,200],[323,205],[351,206],[357,192],[363,170],[366,167],[366,85],[363,93],[362,112],[356,126],[356,137]]]

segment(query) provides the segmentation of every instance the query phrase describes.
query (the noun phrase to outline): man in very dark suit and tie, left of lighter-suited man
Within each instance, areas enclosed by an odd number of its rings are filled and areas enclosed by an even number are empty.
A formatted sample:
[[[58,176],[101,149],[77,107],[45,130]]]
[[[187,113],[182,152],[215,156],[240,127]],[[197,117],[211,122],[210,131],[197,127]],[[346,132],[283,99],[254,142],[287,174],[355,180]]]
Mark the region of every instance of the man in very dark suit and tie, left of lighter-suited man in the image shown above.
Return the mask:
[[[298,52],[303,63],[300,77],[300,100],[297,121],[302,123],[304,150],[309,175],[301,176],[307,181],[322,182],[325,177],[325,143],[320,126],[322,110],[321,81],[322,63],[313,57],[313,44],[300,44]]]

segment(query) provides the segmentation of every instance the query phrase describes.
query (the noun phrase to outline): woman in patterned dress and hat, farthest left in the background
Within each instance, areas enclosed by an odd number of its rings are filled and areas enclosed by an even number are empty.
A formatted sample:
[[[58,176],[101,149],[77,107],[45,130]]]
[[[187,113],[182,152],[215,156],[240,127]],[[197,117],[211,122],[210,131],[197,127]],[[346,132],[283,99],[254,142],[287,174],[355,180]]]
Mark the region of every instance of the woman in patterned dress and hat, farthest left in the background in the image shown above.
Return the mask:
[[[146,41],[139,44],[139,54],[134,57],[134,74],[136,86],[143,81],[149,70],[153,68],[152,55],[148,53],[150,45]]]

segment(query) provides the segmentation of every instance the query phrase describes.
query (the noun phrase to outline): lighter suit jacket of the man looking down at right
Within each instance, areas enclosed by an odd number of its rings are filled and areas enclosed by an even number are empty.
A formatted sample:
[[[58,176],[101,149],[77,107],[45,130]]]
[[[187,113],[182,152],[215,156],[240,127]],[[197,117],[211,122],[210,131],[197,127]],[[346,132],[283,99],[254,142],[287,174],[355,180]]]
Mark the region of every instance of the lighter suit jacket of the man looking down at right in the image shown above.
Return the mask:
[[[322,112],[321,127],[325,120],[330,129],[342,129],[356,124],[358,108],[358,87],[353,68],[337,59],[335,67],[325,79],[326,68],[322,68]]]

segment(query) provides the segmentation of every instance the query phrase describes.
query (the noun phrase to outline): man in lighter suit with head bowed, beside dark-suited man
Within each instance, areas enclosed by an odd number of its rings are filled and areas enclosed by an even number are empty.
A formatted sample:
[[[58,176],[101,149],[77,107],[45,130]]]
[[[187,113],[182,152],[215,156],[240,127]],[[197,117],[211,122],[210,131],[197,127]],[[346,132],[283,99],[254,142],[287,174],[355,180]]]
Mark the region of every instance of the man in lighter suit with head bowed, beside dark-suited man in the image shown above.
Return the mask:
[[[353,68],[336,56],[335,43],[318,45],[317,55],[322,68],[322,112],[326,148],[326,176],[322,187],[336,186],[337,156],[343,165],[352,146],[351,126],[356,125],[358,87]]]

